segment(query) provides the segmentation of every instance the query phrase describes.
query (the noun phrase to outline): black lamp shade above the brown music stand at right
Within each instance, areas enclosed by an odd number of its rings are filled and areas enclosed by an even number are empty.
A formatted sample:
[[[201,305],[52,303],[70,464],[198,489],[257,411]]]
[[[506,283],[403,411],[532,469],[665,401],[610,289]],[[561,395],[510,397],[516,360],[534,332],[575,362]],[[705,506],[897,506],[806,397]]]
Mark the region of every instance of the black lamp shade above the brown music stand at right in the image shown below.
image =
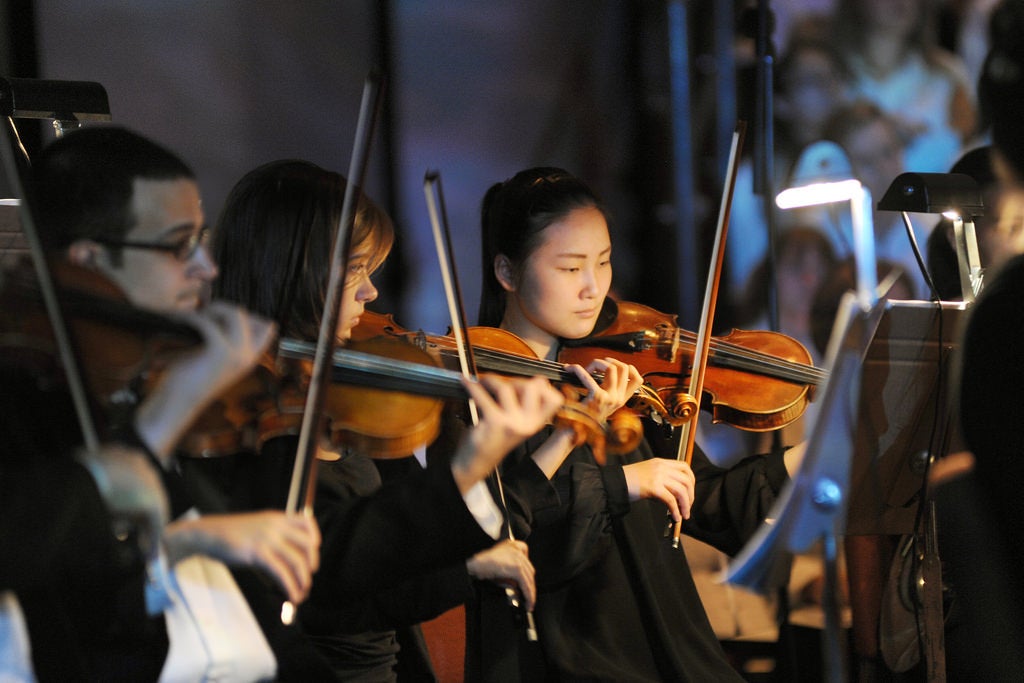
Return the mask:
[[[880,211],[981,216],[985,206],[978,183],[963,173],[901,173],[879,201]]]

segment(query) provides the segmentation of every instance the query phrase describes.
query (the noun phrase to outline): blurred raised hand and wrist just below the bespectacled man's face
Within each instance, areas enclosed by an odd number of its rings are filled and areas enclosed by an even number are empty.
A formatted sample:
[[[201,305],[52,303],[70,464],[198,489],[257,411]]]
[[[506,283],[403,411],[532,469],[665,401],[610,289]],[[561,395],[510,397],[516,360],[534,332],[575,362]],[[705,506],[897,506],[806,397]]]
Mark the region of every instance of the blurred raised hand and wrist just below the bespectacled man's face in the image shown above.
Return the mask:
[[[165,467],[191,422],[259,361],[275,331],[269,321],[220,301],[182,317],[203,335],[203,346],[167,369],[135,417],[136,431]]]

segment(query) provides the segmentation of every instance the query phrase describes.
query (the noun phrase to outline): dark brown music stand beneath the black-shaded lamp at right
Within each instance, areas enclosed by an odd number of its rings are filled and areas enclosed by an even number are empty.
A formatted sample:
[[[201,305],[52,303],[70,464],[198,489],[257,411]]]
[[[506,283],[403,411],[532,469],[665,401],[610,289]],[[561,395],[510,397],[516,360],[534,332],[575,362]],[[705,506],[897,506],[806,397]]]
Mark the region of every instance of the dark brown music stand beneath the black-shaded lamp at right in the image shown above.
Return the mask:
[[[911,537],[908,554],[894,557],[878,577],[879,595],[861,596],[865,624],[872,637],[877,622],[887,633],[879,646],[896,671],[909,666],[900,664],[908,653],[916,656],[914,637],[921,638],[929,680],[944,680],[945,664],[942,575],[926,479],[935,459],[964,447],[949,378],[969,306],[886,302],[864,357],[851,463],[847,535]],[[851,579],[862,568],[851,565]]]

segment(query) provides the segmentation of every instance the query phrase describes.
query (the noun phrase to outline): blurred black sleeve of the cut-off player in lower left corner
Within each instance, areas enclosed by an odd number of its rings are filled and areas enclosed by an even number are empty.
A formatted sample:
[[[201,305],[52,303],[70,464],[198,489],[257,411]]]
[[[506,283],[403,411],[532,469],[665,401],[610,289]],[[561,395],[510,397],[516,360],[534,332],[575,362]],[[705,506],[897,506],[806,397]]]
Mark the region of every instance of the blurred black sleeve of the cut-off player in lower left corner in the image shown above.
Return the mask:
[[[39,680],[156,679],[163,617],[146,614],[138,547],[115,538],[85,468],[0,465],[0,590],[17,594]]]

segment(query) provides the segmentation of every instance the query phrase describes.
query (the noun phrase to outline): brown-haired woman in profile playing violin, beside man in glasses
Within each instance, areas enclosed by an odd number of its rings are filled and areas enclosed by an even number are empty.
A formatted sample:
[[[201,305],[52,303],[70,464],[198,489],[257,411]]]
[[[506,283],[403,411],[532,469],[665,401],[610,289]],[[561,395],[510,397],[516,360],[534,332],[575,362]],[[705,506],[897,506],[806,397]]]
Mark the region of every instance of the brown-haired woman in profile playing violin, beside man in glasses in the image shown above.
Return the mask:
[[[222,270],[214,293],[273,319],[285,337],[315,340],[345,188],[341,175],[301,161],[274,162],[247,174],[228,196],[214,231],[213,251]],[[376,299],[371,274],[387,256],[392,239],[388,216],[358,193],[339,340],[349,339],[366,304]],[[463,602],[470,594],[470,577],[514,581],[532,603],[525,545],[496,545],[502,514],[482,483],[470,487],[462,481],[479,482],[480,473],[489,472],[540,428],[562,398],[547,381],[537,379],[484,378],[483,386],[489,392],[468,386],[482,410],[479,425],[467,432],[454,456],[449,442],[454,439],[442,437],[443,445],[437,446],[447,449],[442,455],[451,457],[450,466],[424,470],[414,463],[412,474],[381,488],[381,476],[366,454],[342,449],[319,456],[315,514],[324,533],[322,565],[298,616],[342,677],[392,680],[394,630]],[[392,417],[382,411],[378,419]],[[294,455],[294,438],[272,438],[246,466],[250,472],[237,472],[229,484],[241,485],[245,476],[255,475],[263,486],[262,499],[281,504]],[[462,471],[466,468],[474,471],[472,477]],[[466,505],[450,500],[453,476]],[[269,483],[274,478],[276,484]],[[389,529],[386,519],[368,514],[360,501],[375,494],[394,502],[391,516],[401,518],[410,511],[404,530]],[[415,506],[407,505],[410,501]],[[395,548],[401,549],[401,559],[382,563],[380,558],[393,556]]]

